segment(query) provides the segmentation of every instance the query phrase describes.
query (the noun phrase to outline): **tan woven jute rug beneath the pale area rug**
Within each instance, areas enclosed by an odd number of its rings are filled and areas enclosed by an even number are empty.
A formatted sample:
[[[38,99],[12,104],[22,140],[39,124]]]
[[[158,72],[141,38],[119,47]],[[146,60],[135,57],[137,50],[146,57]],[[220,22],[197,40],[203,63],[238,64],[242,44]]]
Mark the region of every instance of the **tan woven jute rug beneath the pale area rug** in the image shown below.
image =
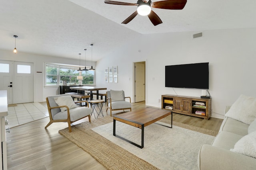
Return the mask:
[[[160,121],[170,124],[170,120],[167,118],[161,119]],[[72,133],[68,132],[68,128],[60,130],[59,133],[75,143],[78,147],[91,154],[96,160],[98,160],[98,162],[109,170],[158,170],[158,168],[150,163],[138,158],[134,154],[108,141],[98,133],[91,130],[94,127],[110,122],[113,122],[113,117],[102,117],[92,120],[91,123],[84,122],[72,126]],[[173,121],[173,125],[207,135],[216,136],[217,134],[216,131],[198,128],[175,121]]]

